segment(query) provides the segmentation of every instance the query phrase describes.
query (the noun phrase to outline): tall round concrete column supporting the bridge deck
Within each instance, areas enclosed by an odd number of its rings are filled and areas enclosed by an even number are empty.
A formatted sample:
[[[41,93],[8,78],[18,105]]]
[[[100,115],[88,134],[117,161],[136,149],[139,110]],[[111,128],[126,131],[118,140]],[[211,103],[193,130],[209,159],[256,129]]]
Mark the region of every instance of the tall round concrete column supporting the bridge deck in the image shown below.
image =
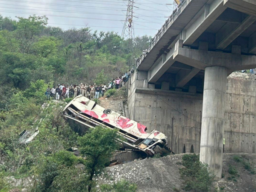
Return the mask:
[[[221,178],[227,68],[205,68],[200,161]]]

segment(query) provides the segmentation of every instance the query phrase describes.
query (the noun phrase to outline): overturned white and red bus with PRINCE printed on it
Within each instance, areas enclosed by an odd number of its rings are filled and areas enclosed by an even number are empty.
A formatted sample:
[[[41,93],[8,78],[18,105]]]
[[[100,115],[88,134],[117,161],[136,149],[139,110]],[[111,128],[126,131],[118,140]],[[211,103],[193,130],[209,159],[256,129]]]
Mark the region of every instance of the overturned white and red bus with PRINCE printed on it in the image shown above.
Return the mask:
[[[124,140],[119,142],[124,150],[143,151],[148,156],[164,156],[171,153],[167,147],[167,137],[163,133],[147,133],[146,126],[105,109],[84,96],[79,95],[68,103],[62,115],[79,135],[83,135],[89,128],[102,126],[118,130],[117,133],[124,137]]]

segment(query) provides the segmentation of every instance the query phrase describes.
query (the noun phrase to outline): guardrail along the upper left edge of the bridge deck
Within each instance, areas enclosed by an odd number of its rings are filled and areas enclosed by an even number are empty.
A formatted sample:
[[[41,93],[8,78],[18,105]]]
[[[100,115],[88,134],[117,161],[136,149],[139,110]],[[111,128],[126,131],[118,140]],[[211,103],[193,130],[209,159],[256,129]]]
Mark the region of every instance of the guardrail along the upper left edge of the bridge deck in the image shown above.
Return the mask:
[[[148,52],[152,50],[152,48],[156,45],[156,43],[159,41],[159,39],[164,35],[164,33],[167,31],[167,29],[172,25],[173,21],[177,19],[177,17],[180,15],[181,7],[187,6],[186,4],[187,0],[181,0],[180,4],[177,6],[177,8],[172,12],[172,15],[165,21],[164,25],[161,29],[158,30],[156,35],[151,39],[149,46],[148,46]],[[146,54],[140,54],[140,60],[137,62],[137,67],[140,65],[142,60],[146,57]]]

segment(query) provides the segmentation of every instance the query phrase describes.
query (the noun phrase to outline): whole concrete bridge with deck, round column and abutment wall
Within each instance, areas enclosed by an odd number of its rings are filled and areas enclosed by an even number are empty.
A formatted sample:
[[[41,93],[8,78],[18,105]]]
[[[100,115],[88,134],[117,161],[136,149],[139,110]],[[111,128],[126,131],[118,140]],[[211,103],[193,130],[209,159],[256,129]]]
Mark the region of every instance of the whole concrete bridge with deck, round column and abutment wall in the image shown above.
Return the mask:
[[[233,84],[226,93],[227,75],[256,68],[255,10],[255,0],[181,1],[147,53],[136,59],[135,85],[128,93],[132,118],[151,130],[164,130],[176,153],[182,153],[184,144],[186,151],[193,145],[199,152],[201,146],[200,160],[217,178],[224,129],[229,140],[225,152],[255,153],[254,83]],[[230,89],[236,96],[228,95]],[[240,98],[238,92],[250,95]],[[226,113],[225,102],[230,106]]]

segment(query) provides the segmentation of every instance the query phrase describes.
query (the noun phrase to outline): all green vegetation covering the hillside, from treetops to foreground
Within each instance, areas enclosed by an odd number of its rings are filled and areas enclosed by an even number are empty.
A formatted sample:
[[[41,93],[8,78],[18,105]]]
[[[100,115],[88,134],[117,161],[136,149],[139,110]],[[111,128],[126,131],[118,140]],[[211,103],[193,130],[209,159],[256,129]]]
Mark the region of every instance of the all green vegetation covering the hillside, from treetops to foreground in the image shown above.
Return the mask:
[[[31,192],[92,190],[93,176],[101,173],[117,147],[117,135],[97,128],[79,137],[61,117],[65,103],[46,101],[45,90],[59,83],[107,83],[134,64],[150,39],[137,37],[134,52],[129,52],[129,42],[114,32],[64,31],[47,27],[47,21],[35,15],[16,20],[0,16],[1,192],[12,187],[7,176],[32,175]],[[20,144],[20,133],[35,128],[39,134],[34,141]],[[80,148],[83,157],[68,152],[71,147]],[[79,163],[85,168],[77,168]],[[113,186],[102,190],[115,191],[127,183]],[[124,192],[135,188],[132,185]]]

